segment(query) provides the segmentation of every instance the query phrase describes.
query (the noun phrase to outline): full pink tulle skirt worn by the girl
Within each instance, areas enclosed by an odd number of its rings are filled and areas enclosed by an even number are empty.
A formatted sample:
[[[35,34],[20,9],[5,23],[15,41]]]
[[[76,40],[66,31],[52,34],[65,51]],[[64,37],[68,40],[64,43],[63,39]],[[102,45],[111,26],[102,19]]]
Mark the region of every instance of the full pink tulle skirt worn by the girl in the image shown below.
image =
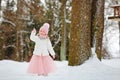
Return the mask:
[[[55,69],[56,66],[50,56],[33,55],[29,62],[27,72],[42,75],[54,72]]]

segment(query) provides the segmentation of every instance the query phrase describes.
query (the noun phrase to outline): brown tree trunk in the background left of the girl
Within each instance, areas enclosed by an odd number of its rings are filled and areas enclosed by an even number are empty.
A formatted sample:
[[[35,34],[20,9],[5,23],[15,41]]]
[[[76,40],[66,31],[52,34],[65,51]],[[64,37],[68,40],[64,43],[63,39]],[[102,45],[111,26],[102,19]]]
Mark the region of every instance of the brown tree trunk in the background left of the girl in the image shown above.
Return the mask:
[[[18,61],[23,61],[23,45],[22,45],[22,41],[23,41],[23,36],[22,36],[22,30],[24,28],[24,23],[25,21],[22,19],[23,16],[25,16],[24,11],[23,11],[23,6],[24,6],[24,1],[22,2],[21,0],[18,1],[17,3],[17,15],[16,16],[16,30],[17,30],[17,55],[18,55]]]

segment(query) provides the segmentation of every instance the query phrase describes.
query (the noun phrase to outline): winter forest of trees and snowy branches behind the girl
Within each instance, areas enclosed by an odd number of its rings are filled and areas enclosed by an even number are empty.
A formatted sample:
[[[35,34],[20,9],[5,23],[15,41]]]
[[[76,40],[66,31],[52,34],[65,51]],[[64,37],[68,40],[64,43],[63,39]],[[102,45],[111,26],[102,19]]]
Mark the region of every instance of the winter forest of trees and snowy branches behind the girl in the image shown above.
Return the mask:
[[[55,60],[79,65],[92,56],[120,58],[120,22],[108,20],[119,0],[0,0],[0,60],[29,62],[34,43],[29,36],[44,22]]]

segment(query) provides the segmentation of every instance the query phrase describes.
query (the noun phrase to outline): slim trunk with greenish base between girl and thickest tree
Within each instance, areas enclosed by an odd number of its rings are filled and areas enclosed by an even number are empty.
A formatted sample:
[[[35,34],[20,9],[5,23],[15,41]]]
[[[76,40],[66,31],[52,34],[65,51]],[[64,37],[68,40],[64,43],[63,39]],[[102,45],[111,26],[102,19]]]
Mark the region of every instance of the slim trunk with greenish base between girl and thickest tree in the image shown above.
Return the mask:
[[[65,23],[65,13],[66,13],[66,0],[61,0],[61,28],[62,28],[62,40],[61,40],[61,51],[60,51],[60,60],[66,60],[66,41],[67,41],[67,34],[66,34],[66,23]]]

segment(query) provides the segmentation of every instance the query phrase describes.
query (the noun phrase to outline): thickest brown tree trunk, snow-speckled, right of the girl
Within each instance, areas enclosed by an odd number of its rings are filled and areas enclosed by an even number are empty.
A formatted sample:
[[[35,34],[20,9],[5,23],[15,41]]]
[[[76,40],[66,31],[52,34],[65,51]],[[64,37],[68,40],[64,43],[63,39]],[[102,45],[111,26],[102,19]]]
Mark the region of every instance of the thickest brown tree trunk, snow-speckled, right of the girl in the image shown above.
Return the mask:
[[[70,28],[69,65],[82,64],[91,55],[90,0],[72,1],[72,23]]]

